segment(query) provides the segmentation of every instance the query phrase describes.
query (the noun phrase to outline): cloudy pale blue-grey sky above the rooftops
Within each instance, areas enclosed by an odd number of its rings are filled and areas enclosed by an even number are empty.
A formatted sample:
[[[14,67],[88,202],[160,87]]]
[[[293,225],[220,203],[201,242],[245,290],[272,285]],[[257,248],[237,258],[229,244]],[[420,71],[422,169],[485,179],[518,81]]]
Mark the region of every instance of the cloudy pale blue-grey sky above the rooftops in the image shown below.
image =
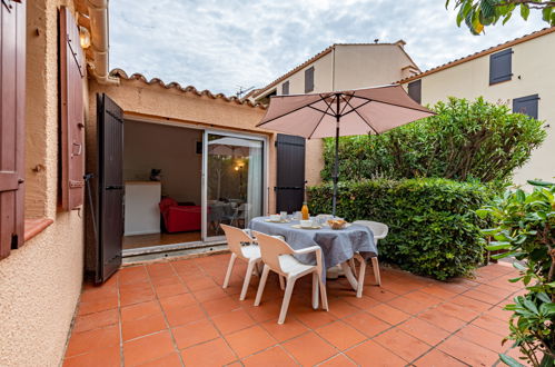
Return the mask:
[[[424,71],[546,27],[517,12],[472,36],[445,0],[112,0],[109,11],[110,68],[227,96],[333,43],[403,39]]]

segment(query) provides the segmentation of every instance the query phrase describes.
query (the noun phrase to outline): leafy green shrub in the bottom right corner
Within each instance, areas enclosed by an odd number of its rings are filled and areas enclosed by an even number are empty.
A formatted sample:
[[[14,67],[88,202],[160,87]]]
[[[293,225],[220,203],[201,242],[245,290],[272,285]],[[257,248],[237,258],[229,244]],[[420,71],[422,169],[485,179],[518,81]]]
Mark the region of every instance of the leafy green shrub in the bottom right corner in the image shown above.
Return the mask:
[[[512,310],[511,335],[528,363],[534,366],[555,365],[555,185],[528,181],[534,191],[521,189],[506,191],[492,205],[477,210],[478,216],[489,218],[495,228],[483,234],[493,239],[489,249],[504,249],[497,257],[513,256],[519,262],[514,266],[522,281],[524,296],[515,297]],[[516,363],[508,356],[502,360]]]

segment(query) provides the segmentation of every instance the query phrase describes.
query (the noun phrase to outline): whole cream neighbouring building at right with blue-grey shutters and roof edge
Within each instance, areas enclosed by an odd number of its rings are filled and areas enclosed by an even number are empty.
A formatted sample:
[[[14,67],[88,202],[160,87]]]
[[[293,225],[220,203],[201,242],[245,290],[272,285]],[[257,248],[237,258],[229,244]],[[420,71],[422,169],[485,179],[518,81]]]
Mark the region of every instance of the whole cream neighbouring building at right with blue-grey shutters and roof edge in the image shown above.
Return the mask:
[[[514,182],[553,181],[555,177],[555,27],[404,78],[408,93],[422,105],[448,97],[506,103],[514,112],[545,120],[547,138],[515,172]],[[396,79],[392,79],[396,80]],[[398,79],[397,79],[398,80]]]

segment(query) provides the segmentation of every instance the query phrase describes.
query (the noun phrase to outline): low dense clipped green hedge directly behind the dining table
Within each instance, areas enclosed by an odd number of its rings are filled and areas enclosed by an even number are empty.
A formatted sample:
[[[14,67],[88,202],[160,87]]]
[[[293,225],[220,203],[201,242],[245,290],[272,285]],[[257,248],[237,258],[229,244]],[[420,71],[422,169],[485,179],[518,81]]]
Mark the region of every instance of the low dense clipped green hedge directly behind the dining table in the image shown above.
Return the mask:
[[[313,214],[331,212],[330,184],[307,189]],[[436,279],[469,274],[483,259],[480,219],[475,210],[489,202],[480,184],[447,179],[339,182],[337,215],[389,226],[379,240],[380,259]]]

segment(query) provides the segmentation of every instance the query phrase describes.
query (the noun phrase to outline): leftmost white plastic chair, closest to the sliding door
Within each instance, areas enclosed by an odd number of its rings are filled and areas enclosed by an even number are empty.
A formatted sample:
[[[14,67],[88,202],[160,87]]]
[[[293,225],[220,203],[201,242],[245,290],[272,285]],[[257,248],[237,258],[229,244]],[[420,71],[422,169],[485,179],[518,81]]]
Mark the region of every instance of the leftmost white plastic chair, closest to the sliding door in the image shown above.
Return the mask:
[[[229,265],[227,267],[222,288],[227,288],[227,286],[229,285],[229,278],[231,277],[235,259],[239,258],[244,261],[247,261],[247,272],[245,274],[241,295],[239,297],[240,300],[245,300],[250,284],[250,278],[252,277],[252,271],[256,269],[256,265],[261,262],[262,260],[260,257],[260,249],[258,246],[252,245],[255,240],[242,229],[227,225],[220,226],[226,234],[227,245],[229,246],[229,250],[231,251],[231,258],[229,259]]]

